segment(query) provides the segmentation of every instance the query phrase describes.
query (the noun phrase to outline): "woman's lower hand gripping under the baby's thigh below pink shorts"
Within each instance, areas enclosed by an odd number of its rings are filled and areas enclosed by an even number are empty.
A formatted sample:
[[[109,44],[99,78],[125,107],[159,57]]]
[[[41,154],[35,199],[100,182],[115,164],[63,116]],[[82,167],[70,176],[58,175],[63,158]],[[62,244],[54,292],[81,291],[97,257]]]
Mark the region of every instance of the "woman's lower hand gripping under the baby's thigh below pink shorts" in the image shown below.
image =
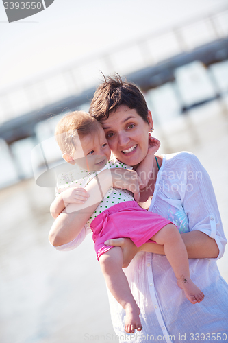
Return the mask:
[[[123,251],[123,268],[128,267],[131,262],[131,259],[133,259],[137,252],[141,250],[141,247],[137,248],[136,244],[134,244],[130,238],[108,239],[107,241],[105,241],[105,245],[121,247]]]

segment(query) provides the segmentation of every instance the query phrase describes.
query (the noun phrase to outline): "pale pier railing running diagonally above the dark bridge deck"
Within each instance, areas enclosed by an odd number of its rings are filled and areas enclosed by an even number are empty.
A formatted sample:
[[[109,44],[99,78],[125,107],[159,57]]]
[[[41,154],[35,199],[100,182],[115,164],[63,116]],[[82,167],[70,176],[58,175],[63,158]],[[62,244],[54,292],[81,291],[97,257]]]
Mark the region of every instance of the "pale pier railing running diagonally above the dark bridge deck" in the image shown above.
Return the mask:
[[[228,8],[223,8],[77,60],[58,71],[1,91],[0,124],[71,95],[79,95],[101,80],[101,71],[105,75],[114,72],[126,75],[226,36]]]

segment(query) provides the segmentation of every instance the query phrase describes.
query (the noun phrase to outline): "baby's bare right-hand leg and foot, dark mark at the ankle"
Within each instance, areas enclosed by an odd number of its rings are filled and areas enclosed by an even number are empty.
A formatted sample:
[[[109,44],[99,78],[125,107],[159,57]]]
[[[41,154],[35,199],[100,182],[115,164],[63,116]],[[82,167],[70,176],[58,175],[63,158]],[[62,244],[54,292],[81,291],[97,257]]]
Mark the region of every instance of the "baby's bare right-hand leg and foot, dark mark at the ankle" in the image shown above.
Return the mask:
[[[177,278],[177,285],[183,289],[186,298],[192,304],[200,303],[204,294],[190,279],[188,253],[176,226],[164,226],[151,239],[164,245],[164,252]]]

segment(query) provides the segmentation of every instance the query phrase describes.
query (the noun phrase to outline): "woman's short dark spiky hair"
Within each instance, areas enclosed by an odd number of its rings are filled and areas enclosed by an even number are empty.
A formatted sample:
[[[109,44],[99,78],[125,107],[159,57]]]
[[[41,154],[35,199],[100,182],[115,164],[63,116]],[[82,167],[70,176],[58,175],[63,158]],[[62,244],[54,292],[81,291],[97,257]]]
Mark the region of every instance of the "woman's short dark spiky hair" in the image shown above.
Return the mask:
[[[89,113],[98,121],[107,119],[111,111],[121,105],[135,109],[138,115],[148,123],[148,108],[144,96],[138,87],[131,82],[123,82],[121,76],[104,76],[90,104]]]

